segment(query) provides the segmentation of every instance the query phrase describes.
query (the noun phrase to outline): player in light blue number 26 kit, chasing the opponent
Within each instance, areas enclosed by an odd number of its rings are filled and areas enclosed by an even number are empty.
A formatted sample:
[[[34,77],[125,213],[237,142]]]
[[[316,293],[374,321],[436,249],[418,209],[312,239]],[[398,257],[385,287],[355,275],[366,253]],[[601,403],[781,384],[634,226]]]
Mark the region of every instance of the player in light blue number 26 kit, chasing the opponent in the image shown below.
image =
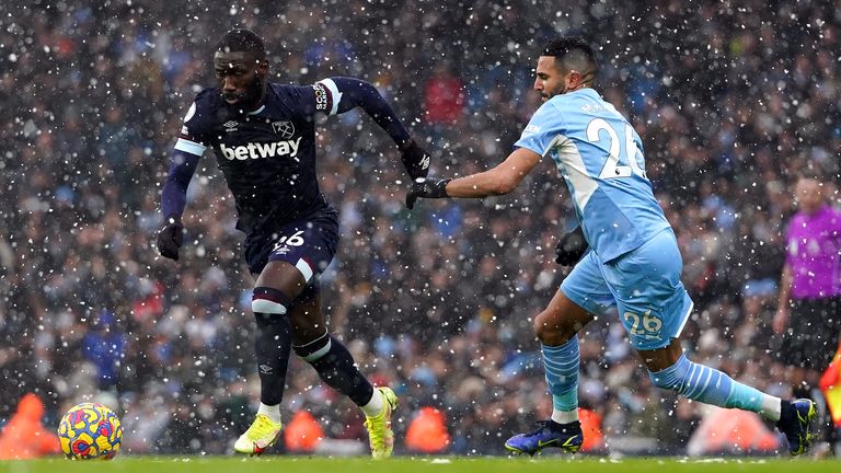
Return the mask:
[[[680,281],[682,259],[675,233],[645,174],[640,136],[615,107],[591,89],[598,66],[578,37],[550,42],[538,60],[534,89],[543,105],[496,168],[459,178],[419,178],[418,197],[485,197],[508,194],[550,157],[575,201],[580,231],[590,246],[564,279],[549,307],[534,319],[541,342],[552,418],[534,431],[511,437],[506,448],[534,454],[545,447],[576,452],[578,422],[578,331],[596,315],[619,314],[633,347],[658,388],[726,408],[756,412],[775,422],[790,452],[806,451],[815,403],[784,401],[691,361],[680,333],[692,300]]]

